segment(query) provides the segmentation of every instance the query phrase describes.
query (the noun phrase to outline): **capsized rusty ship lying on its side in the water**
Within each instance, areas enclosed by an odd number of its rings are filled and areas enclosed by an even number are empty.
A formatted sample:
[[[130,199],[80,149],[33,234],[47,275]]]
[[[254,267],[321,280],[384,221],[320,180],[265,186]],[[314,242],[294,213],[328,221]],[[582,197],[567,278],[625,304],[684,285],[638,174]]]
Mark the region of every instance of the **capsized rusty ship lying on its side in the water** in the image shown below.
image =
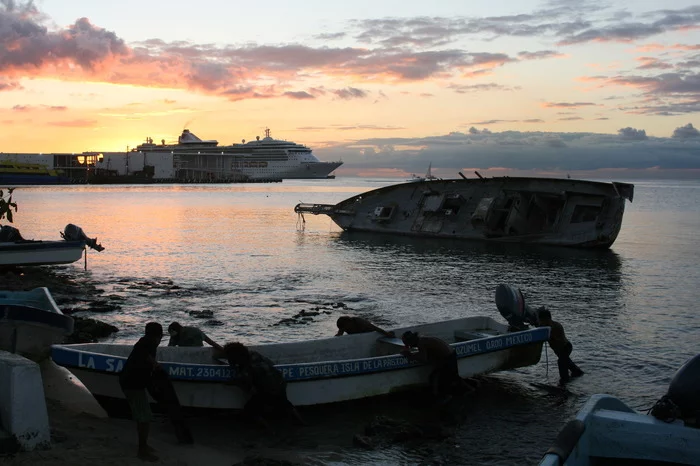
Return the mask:
[[[609,248],[633,196],[628,183],[479,175],[395,184],[294,211],[328,215],[346,231]]]

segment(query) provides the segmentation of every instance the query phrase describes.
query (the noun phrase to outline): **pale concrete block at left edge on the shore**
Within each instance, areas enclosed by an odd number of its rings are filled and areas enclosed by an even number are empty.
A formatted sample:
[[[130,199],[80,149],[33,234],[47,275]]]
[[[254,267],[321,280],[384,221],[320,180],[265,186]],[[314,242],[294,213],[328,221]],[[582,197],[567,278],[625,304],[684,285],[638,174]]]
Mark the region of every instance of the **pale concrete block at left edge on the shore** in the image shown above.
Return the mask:
[[[0,351],[0,422],[24,451],[51,447],[39,365]]]

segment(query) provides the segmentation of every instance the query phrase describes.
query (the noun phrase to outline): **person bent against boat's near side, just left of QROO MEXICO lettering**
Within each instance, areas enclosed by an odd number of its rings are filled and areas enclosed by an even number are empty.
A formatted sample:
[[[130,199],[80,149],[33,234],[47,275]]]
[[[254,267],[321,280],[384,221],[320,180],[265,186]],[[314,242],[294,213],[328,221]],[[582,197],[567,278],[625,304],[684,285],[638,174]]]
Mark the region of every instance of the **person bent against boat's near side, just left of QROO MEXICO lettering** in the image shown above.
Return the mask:
[[[408,347],[401,354],[409,361],[420,361],[434,367],[430,374],[430,387],[433,395],[449,397],[455,388],[465,388],[464,380],[459,376],[457,353],[443,340],[436,337],[421,337],[416,332],[405,332],[401,339]],[[411,352],[410,348],[418,348]]]

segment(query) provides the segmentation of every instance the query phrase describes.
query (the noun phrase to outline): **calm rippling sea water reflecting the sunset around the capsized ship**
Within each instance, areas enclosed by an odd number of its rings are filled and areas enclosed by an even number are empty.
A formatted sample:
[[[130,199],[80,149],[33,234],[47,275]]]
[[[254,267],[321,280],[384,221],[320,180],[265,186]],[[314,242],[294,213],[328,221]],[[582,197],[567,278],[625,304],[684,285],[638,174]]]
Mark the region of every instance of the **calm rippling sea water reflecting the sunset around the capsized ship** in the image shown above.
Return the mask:
[[[494,289],[511,283],[564,324],[586,371],[566,398],[529,385],[556,382],[551,352],[549,366],[543,357],[489,377],[455,409],[446,440],[420,445],[352,446],[376,414],[432,422],[418,400],[311,410],[306,442],[286,448],[319,464],[535,464],[588,396],[610,393],[647,409],[700,352],[700,181],[635,183],[620,236],[605,252],[346,234],[326,216],[306,216],[302,230],[293,212],[300,201],[335,203],[390,183],[20,188],[15,226],[33,239],[58,239],[67,223],[97,236],[106,249],[88,253],[88,270],[77,263],[60,273],[120,306],[86,313],[117,325],[118,342],[133,342],[150,320],[198,325],[220,342],[328,336],[339,302],[387,327],[500,318]],[[316,307],[328,312],[294,319]]]

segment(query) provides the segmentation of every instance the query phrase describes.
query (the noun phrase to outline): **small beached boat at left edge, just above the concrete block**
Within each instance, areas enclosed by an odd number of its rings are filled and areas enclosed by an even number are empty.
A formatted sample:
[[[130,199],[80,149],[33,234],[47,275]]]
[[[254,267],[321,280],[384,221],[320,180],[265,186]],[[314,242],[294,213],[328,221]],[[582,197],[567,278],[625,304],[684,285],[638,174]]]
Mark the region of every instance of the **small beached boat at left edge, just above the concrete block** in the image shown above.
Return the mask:
[[[45,355],[72,332],[73,318],[61,312],[47,288],[0,291],[0,350]]]

